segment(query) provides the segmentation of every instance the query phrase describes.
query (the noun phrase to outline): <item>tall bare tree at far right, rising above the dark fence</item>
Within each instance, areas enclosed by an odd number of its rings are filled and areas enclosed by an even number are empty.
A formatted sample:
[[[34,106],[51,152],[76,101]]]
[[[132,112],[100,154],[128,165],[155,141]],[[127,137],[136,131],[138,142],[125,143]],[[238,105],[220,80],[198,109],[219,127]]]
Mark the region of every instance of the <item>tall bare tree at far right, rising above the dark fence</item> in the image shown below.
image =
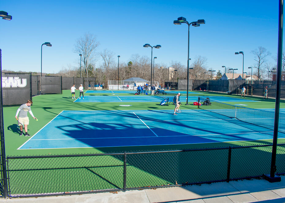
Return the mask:
[[[267,52],[267,50],[259,46],[258,49],[252,50],[251,53],[254,55],[256,61],[256,66],[254,68],[257,69],[257,80],[259,80],[263,68],[263,63],[266,62],[266,57],[270,56],[271,53]]]

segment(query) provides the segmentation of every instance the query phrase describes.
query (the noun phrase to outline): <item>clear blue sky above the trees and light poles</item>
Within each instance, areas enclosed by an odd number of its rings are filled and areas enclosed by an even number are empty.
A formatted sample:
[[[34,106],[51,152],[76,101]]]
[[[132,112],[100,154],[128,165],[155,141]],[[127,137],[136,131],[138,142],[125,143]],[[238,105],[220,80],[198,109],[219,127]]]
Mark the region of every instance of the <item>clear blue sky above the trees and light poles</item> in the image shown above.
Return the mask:
[[[265,47],[277,54],[278,1],[96,1],[96,0],[9,0],[0,2],[0,10],[13,19],[0,20],[2,69],[40,71],[40,48],[43,46],[43,72],[56,73],[63,66],[77,66],[73,53],[75,41],[84,33],[97,36],[97,52],[114,52],[115,61],[128,62],[132,54],[150,57],[145,43],[160,44],[154,49],[156,63],[180,61],[187,65],[188,27],[174,25],[177,17],[188,21],[204,19],[206,24],[190,27],[190,58],[207,57],[213,70],[222,65],[245,72],[254,64],[251,50]],[[284,45],[283,45],[284,46]],[[275,61],[268,57],[272,63]],[[101,65],[98,56],[96,66]]]

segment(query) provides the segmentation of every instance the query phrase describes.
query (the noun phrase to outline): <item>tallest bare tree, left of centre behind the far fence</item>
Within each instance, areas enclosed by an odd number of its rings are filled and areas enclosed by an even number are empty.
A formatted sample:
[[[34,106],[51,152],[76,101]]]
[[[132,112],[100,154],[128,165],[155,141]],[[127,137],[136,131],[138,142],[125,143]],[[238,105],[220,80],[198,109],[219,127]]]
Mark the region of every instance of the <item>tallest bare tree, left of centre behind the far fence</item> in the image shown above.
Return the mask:
[[[88,77],[88,72],[92,72],[89,68],[93,67],[95,63],[95,50],[99,42],[96,37],[90,33],[85,33],[83,37],[76,40],[74,45],[74,53],[82,54],[83,69],[85,75]]]

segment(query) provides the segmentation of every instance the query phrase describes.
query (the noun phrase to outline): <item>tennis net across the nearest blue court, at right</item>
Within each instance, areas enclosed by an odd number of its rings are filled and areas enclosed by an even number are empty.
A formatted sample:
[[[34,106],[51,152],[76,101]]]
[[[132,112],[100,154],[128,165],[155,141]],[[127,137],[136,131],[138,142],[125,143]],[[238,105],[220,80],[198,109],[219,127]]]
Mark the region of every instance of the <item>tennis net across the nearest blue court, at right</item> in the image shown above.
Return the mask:
[[[199,97],[198,102],[201,102],[201,105],[198,105],[199,109],[204,109],[230,118],[236,118],[246,123],[274,130],[274,111],[251,109],[201,97]],[[206,103],[210,105],[204,105]],[[285,133],[285,113],[282,112],[279,113],[278,131]]]

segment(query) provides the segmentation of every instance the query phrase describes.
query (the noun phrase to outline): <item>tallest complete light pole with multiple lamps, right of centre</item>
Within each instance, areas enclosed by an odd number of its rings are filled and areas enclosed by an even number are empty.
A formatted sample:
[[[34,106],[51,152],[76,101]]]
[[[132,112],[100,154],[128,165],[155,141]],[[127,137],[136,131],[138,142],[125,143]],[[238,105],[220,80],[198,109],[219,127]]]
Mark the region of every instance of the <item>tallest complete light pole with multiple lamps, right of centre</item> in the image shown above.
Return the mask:
[[[188,57],[187,57],[187,100],[186,100],[186,105],[188,104],[188,89],[189,89],[189,50],[190,50],[190,25],[194,27],[199,27],[200,24],[205,24],[205,20],[197,20],[191,23],[188,23],[186,21],[186,18],[184,17],[179,17],[177,20],[173,20],[173,24],[175,25],[181,25],[181,23],[186,23],[188,25]]]

